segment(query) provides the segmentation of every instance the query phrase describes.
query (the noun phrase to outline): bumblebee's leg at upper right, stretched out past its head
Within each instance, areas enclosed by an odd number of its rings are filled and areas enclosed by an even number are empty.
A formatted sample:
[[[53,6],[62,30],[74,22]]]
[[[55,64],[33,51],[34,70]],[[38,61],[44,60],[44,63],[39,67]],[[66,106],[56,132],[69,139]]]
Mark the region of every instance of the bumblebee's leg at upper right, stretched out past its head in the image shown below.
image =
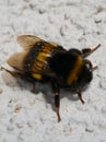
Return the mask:
[[[95,48],[91,49],[91,48],[85,48],[85,49],[82,49],[82,55],[83,57],[87,57],[90,56],[92,52],[94,52],[96,49],[98,49],[101,47],[101,44],[98,44]]]

